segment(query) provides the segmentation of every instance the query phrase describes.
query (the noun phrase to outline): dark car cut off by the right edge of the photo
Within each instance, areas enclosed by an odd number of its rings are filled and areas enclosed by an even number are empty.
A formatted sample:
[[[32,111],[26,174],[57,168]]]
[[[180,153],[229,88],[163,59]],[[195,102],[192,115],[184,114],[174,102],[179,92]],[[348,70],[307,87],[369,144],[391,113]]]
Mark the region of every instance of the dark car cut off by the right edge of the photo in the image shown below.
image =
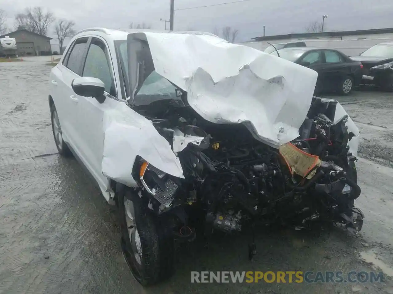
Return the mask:
[[[351,59],[364,65],[363,84],[375,84],[385,91],[393,91],[393,42],[376,44]]]

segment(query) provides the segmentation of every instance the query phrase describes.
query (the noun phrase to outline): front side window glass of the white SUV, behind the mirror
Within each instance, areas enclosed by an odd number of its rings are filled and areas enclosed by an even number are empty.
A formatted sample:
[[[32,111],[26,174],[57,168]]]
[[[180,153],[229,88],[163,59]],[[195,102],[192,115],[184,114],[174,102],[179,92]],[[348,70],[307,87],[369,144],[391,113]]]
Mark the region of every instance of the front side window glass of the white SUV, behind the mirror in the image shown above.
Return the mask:
[[[97,38],[92,38],[90,43],[82,76],[99,78],[105,84],[105,91],[116,97],[116,87],[110,67],[108,49]]]

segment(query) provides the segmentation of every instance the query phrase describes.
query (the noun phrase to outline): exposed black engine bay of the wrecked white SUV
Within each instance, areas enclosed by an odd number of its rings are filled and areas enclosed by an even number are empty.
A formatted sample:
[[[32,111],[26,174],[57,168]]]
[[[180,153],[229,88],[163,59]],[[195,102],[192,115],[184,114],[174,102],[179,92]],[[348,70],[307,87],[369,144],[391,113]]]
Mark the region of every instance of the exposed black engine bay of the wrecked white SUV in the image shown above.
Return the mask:
[[[165,103],[165,107],[162,107]],[[296,229],[321,223],[362,228],[354,207],[360,195],[348,144],[347,116],[334,123],[336,101],[314,97],[299,137],[280,149],[257,140],[243,124],[215,124],[173,100],[135,106],[171,144],[184,179],[166,174],[140,158],[133,176],[140,179],[147,206],[171,219],[180,240],[214,230],[240,232],[259,223]],[[249,256],[255,253],[253,240]]]

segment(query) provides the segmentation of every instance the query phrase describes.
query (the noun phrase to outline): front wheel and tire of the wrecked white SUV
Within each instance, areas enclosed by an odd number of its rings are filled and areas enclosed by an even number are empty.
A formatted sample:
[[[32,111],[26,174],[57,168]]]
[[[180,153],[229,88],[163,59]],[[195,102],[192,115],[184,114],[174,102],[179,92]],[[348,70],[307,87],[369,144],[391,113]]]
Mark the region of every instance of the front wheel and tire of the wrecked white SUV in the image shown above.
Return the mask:
[[[122,250],[136,281],[150,286],[169,278],[174,268],[173,238],[131,189],[119,192],[118,206]]]

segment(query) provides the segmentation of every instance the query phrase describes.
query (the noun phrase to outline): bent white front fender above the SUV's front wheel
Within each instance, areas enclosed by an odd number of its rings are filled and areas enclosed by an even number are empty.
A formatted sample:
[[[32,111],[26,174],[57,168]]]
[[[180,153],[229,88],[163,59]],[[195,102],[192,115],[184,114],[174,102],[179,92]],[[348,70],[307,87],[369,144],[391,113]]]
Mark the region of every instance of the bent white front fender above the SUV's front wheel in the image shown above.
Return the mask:
[[[131,172],[139,155],[157,169],[184,178],[182,166],[171,145],[158,134],[151,121],[124,103],[117,103],[104,115],[101,169],[105,176],[130,187],[136,186]]]

